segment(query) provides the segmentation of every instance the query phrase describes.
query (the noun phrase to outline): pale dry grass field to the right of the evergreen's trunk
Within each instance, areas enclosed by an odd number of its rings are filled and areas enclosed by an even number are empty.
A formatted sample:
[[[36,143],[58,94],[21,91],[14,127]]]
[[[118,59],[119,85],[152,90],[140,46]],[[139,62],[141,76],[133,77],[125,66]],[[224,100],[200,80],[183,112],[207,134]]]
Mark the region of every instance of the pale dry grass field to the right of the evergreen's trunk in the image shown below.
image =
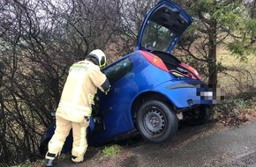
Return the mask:
[[[247,60],[241,61],[225,48],[218,49],[217,60],[226,69],[218,75],[219,84],[227,94],[235,95],[255,88],[256,55],[248,55],[246,58]]]

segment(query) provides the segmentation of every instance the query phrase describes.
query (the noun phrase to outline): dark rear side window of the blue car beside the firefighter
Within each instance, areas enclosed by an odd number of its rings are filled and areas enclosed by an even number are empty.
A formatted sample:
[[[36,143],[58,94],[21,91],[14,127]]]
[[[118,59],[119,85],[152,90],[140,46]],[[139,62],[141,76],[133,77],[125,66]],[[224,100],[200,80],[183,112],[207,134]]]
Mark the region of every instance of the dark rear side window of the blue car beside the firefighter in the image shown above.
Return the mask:
[[[132,69],[132,61],[129,57],[113,64],[111,67],[104,69],[103,73],[109,79],[109,83],[113,84],[117,82],[121,77],[125,76]]]

